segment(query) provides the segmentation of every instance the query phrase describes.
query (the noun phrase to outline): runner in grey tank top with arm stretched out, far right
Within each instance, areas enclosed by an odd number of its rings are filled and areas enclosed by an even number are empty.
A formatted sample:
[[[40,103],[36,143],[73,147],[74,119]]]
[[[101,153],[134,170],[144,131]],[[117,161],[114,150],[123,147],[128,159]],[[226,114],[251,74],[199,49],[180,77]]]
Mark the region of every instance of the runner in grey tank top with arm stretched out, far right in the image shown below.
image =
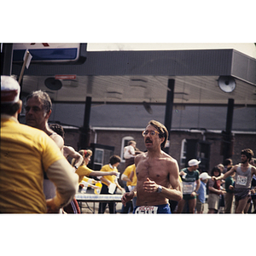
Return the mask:
[[[256,175],[255,166],[249,164],[253,157],[253,150],[246,148],[241,150],[241,163],[233,166],[230,171],[225,172],[221,176],[213,176],[213,180],[225,179],[236,172],[236,183],[234,188],[234,194],[236,199],[236,213],[244,213],[244,209],[247,205],[248,196],[251,193],[251,183],[253,174]],[[253,191],[254,192],[254,191]]]

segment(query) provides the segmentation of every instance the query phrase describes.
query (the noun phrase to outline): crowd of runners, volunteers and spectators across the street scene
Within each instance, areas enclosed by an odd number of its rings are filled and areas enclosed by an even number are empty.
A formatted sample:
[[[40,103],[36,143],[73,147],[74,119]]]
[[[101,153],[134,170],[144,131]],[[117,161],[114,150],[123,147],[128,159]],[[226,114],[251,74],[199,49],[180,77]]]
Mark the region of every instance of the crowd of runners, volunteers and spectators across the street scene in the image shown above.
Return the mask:
[[[100,171],[91,170],[92,151],[66,146],[62,126],[48,124],[52,103],[46,92],[37,90],[26,97],[26,125],[18,121],[21,108],[20,84],[1,76],[1,213],[80,213],[75,194],[84,186],[102,195],[119,189],[121,213],[203,213],[206,203],[208,213],[256,212],[252,149],[241,150],[239,164],[233,166],[227,159],[214,166],[211,175],[198,171],[201,161],[196,159],[179,170],[177,160],[162,150],[166,126],[151,120],[143,131],[146,151],[139,151],[135,141],[124,148],[123,188],[119,155],[112,155]],[[116,213],[111,201],[101,202],[98,213],[106,207]]]

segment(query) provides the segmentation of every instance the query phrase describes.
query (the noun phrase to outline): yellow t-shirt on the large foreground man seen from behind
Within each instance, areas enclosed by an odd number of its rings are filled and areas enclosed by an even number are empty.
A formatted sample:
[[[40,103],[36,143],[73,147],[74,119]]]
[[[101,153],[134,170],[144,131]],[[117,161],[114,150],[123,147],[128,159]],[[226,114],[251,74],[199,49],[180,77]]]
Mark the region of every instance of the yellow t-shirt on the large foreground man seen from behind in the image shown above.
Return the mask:
[[[55,161],[63,159],[55,142],[38,129],[1,117],[0,212],[44,213],[43,181]]]

